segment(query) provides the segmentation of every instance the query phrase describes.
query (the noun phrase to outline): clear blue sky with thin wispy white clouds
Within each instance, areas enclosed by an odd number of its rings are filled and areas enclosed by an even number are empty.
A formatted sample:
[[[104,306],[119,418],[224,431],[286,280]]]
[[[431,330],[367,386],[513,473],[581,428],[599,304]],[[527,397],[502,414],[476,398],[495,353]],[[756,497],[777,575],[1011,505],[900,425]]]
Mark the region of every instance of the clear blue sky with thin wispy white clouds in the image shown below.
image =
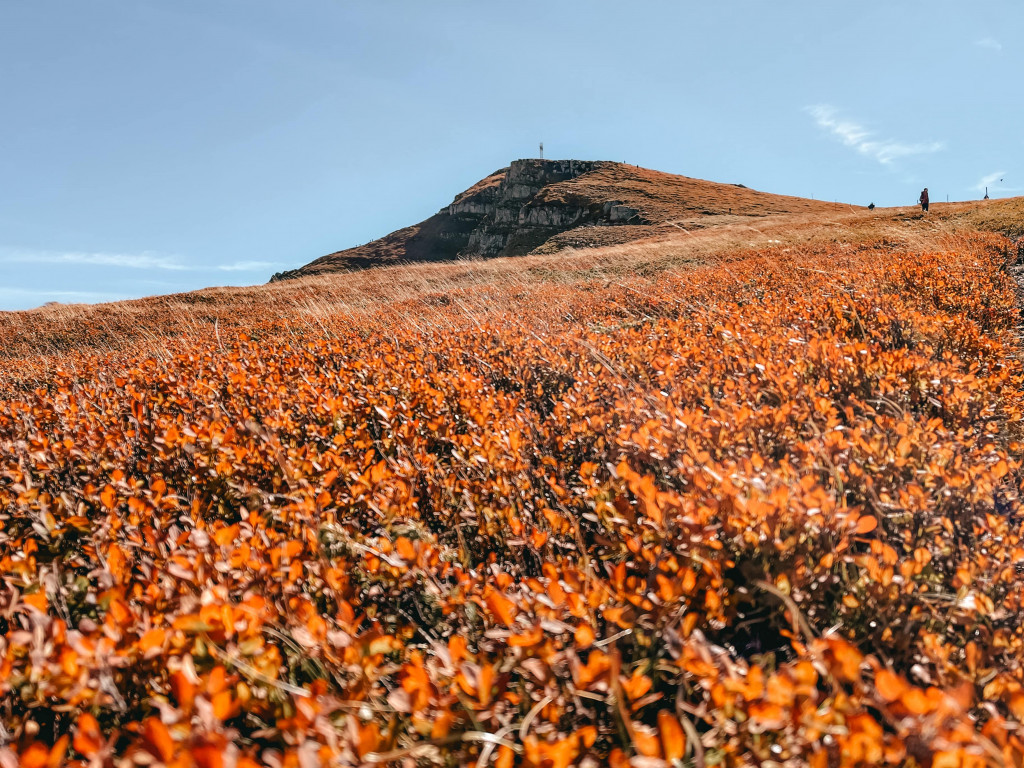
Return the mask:
[[[0,0],[0,309],[262,283],[540,140],[862,205],[1024,194],[1022,32],[1020,0]]]

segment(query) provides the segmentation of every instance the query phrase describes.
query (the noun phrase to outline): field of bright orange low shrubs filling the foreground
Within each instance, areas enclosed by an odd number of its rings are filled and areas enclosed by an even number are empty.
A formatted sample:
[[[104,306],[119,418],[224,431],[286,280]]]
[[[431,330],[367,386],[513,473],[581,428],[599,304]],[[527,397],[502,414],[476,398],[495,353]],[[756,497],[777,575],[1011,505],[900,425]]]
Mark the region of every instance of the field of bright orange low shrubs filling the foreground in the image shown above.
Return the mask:
[[[0,766],[1020,765],[1005,244],[6,360]]]

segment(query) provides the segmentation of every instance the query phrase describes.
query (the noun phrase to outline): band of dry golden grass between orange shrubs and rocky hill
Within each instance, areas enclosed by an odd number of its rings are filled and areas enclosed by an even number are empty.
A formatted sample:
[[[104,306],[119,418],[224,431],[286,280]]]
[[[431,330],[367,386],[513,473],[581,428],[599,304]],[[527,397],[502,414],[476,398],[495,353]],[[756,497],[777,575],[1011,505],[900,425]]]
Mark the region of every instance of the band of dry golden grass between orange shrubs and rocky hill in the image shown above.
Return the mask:
[[[26,312],[0,312],[0,359],[71,351],[159,352],[205,336],[212,327],[230,333],[239,316],[258,311],[270,325],[325,330],[338,323],[429,323],[439,296],[459,294],[467,311],[513,308],[523,292],[550,284],[574,285],[626,276],[649,279],[752,250],[814,248],[839,244],[943,250],[949,238],[974,228],[1014,231],[1022,201],[936,205],[929,216],[916,208],[835,210],[735,220],[691,229],[666,225],[650,237],[603,248],[553,254],[442,263],[396,264],[370,270],[314,275],[249,288],[209,288],[190,293],[109,304],[52,304]],[[984,226],[983,226],[984,225]]]

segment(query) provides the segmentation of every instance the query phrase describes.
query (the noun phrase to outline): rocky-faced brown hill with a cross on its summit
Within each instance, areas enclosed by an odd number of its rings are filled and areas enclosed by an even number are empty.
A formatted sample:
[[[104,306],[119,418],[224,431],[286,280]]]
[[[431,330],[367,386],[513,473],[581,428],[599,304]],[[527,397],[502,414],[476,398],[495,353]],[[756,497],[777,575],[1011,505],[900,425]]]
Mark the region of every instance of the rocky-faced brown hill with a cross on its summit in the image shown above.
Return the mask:
[[[400,261],[519,256],[639,240],[666,226],[703,227],[739,217],[849,206],[771,195],[741,184],[579,160],[516,160],[425,221],[329,254],[272,280]]]

